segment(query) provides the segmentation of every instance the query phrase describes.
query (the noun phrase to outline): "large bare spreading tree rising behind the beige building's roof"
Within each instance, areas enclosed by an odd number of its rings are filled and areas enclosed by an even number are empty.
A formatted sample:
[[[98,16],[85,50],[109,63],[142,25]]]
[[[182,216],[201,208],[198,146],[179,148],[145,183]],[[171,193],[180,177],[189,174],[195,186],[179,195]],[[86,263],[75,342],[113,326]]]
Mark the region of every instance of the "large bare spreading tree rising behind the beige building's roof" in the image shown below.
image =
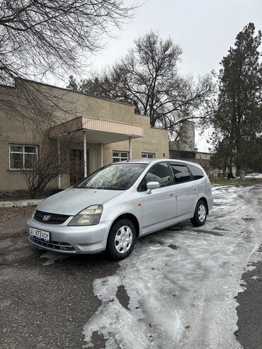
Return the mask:
[[[203,105],[214,91],[211,76],[197,82],[178,74],[181,47],[150,32],[108,71],[80,82],[78,89],[117,101],[132,103],[136,113],[148,115],[152,127],[177,134],[182,120],[205,117]],[[74,77],[69,88],[76,90]]]

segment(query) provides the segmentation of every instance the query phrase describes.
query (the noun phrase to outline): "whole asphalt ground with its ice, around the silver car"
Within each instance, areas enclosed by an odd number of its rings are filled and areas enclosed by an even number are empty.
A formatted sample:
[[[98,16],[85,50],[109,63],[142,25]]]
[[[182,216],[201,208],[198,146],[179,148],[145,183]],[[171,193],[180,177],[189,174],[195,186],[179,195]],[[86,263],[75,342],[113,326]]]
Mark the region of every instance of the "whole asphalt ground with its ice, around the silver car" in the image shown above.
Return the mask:
[[[262,348],[261,193],[216,188],[204,227],[146,236],[120,263],[1,239],[0,348]]]

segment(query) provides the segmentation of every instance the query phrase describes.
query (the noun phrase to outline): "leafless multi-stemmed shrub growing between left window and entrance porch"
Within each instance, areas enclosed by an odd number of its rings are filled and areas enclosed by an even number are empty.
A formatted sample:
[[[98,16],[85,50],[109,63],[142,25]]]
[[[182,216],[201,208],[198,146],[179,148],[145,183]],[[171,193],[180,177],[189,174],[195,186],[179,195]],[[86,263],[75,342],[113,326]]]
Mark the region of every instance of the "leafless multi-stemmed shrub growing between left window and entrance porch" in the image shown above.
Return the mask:
[[[21,111],[24,117],[20,119],[20,124],[21,127],[24,126],[25,138],[33,139],[33,144],[39,145],[36,147],[30,145],[30,141],[26,142],[24,147],[32,150],[25,152],[25,154],[19,153],[19,151],[15,153],[16,157],[13,158],[13,163],[14,168],[19,169],[25,178],[31,198],[39,198],[45,192],[47,185],[57,179],[57,176],[72,173],[69,167],[69,145],[70,142],[74,142],[74,132],[67,136],[61,135],[59,147],[57,147],[57,139],[50,138],[50,127],[59,122],[57,105],[45,103],[45,108],[42,108],[42,104],[38,105],[38,98],[44,98],[44,93],[35,99],[33,93],[28,93],[28,96],[32,99],[25,100],[24,109]],[[56,103],[60,102],[58,97]],[[32,110],[33,113],[26,115],[27,111],[31,112]],[[37,119],[35,114],[38,114]],[[74,116],[73,113],[72,116]],[[12,147],[16,147],[16,145],[14,144]]]

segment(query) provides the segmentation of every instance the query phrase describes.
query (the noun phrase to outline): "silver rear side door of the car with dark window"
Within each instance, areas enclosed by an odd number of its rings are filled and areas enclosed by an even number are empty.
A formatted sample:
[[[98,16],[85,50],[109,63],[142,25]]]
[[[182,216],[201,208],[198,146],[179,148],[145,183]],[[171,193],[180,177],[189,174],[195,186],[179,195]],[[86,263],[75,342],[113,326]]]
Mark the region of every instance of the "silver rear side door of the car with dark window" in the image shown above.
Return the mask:
[[[170,161],[173,172],[173,192],[176,195],[177,217],[180,219],[193,217],[198,198],[198,188],[191,177],[185,163]]]

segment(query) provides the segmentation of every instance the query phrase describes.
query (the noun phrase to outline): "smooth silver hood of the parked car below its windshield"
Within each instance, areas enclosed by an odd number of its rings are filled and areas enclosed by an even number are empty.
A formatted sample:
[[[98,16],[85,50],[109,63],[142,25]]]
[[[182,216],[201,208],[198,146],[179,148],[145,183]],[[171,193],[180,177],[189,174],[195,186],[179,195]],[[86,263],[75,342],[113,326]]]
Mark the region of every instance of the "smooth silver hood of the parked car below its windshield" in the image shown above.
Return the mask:
[[[122,193],[122,190],[69,188],[41,202],[37,210],[74,216],[86,207],[103,205],[104,202]]]

